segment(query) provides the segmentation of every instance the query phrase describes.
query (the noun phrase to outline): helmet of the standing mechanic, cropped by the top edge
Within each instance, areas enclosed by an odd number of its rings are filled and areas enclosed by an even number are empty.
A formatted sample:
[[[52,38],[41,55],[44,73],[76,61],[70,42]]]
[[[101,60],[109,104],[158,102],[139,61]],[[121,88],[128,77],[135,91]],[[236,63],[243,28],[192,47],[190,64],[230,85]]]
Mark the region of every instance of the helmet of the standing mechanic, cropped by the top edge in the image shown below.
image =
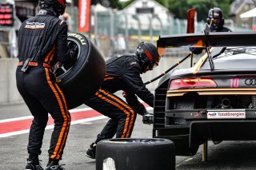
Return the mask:
[[[66,9],[66,0],[39,0],[39,6],[41,9],[50,8],[50,6],[52,6],[55,12],[62,15]]]

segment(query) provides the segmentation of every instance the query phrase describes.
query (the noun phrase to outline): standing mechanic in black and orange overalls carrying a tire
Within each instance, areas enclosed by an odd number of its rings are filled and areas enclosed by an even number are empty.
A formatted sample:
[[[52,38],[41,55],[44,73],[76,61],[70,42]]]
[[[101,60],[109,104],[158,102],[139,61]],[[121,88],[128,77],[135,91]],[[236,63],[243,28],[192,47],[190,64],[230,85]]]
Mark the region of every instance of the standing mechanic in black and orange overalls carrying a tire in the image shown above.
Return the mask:
[[[42,138],[48,113],[54,119],[46,170],[64,169],[58,164],[70,128],[70,113],[62,90],[56,83],[52,66],[74,62],[78,48],[67,45],[67,25],[58,18],[66,10],[66,0],[40,0],[40,11],[22,23],[18,32],[18,68],[16,80],[19,93],[34,120],[30,127],[26,170],[43,169],[39,164]]]

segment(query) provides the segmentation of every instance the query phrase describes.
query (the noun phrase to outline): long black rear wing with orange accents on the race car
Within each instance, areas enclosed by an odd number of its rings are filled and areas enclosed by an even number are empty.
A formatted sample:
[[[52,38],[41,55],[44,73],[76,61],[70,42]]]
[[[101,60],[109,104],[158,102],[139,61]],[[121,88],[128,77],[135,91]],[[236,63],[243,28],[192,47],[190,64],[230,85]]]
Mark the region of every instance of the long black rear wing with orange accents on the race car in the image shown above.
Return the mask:
[[[166,48],[172,47],[254,46],[255,40],[256,32],[207,32],[159,36],[157,46],[158,53],[162,55]]]

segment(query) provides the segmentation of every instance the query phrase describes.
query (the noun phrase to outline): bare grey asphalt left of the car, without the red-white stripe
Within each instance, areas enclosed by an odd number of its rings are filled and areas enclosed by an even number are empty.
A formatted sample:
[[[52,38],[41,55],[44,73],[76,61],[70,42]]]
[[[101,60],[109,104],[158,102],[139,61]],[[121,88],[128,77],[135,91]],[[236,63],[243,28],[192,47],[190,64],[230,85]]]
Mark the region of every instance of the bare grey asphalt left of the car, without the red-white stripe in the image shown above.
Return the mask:
[[[86,107],[86,105],[81,106]],[[30,115],[26,105],[1,105],[0,120],[6,118],[23,117]],[[95,169],[95,160],[85,156],[86,149],[94,142],[98,132],[106,125],[108,118],[100,121],[85,122],[78,125],[71,125],[66,147],[61,160],[65,164],[64,168],[70,170],[93,170]],[[1,127],[0,127],[1,128]],[[42,166],[46,168],[48,160],[47,150],[50,146],[50,136],[53,129],[45,131],[42,154],[39,159],[42,160]],[[149,138],[152,132],[152,125],[143,125],[142,117],[138,116],[134,125],[134,138]],[[21,134],[0,138],[0,169],[17,170],[25,169],[26,158],[28,156],[26,146],[28,134]]]

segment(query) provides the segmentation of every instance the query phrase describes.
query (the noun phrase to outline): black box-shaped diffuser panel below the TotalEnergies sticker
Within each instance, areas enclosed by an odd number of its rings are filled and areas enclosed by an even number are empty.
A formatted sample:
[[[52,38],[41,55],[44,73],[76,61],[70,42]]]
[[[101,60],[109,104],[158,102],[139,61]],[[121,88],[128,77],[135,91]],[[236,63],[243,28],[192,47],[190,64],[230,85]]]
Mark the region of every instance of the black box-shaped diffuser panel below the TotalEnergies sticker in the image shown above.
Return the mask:
[[[205,140],[256,140],[256,121],[192,121],[190,146]]]

